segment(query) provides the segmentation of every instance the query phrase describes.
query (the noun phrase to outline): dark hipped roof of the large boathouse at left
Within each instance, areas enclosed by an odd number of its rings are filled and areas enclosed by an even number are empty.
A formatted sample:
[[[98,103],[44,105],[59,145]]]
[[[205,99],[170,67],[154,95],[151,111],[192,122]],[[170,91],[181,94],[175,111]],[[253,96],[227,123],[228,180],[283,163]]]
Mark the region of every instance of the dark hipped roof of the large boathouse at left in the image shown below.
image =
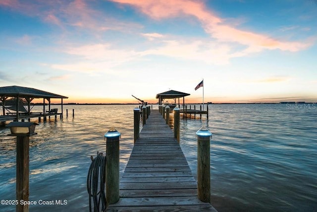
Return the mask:
[[[21,87],[21,86],[5,86],[0,87],[0,96],[5,97],[30,97],[30,98],[58,98],[67,99],[67,96],[61,96],[58,94],[50,93],[43,90],[38,90],[35,88]]]

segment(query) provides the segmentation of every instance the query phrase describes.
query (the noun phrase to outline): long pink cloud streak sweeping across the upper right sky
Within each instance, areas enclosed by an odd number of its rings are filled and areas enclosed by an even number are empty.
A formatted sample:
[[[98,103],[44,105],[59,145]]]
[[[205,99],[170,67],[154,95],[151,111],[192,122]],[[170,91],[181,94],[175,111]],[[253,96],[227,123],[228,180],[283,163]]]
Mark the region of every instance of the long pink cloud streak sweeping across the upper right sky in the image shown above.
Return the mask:
[[[194,0],[112,0],[114,2],[130,4],[153,19],[170,18],[177,16],[194,16],[202,24],[205,31],[212,38],[220,42],[235,42],[246,45],[246,50],[235,55],[242,56],[264,49],[280,49],[282,51],[300,51],[311,44],[287,42],[271,38],[264,34],[252,31],[239,30],[208,10],[204,1]]]

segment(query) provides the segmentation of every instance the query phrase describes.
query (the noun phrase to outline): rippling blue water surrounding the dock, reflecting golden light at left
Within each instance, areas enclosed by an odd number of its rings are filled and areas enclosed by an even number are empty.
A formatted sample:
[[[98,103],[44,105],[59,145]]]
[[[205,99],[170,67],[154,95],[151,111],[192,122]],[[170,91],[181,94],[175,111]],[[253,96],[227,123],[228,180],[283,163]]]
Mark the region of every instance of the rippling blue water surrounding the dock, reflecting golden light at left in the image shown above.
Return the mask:
[[[57,106],[59,107],[59,106]],[[90,156],[106,151],[104,134],[121,133],[120,172],[133,147],[135,105],[66,105],[60,121],[30,138],[30,200],[66,200],[30,211],[88,211]],[[41,111],[42,107],[39,107]],[[157,108],[157,105],[154,106]],[[34,108],[33,111],[37,109]],[[60,109],[59,109],[60,110]],[[317,105],[210,105],[209,120],[181,120],[181,147],[197,175],[195,132],[211,140],[211,203],[223,211],[317,211]],[[37,120],[34,120],[37,121]],[[15,199],[15,139],[0,128],[0,199]],[[0,205],[0,211],[15,206]]]

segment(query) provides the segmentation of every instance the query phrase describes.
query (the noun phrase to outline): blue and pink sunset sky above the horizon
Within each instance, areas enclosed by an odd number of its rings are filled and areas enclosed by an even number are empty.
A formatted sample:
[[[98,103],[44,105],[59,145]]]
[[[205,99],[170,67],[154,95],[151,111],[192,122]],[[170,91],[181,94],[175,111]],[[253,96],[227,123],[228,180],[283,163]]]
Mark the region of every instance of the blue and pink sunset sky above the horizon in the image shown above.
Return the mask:
[[[204,88],[195,91],[204,79]],[[317,0],[0,0],[0,86],[64,102],[317,101]]]

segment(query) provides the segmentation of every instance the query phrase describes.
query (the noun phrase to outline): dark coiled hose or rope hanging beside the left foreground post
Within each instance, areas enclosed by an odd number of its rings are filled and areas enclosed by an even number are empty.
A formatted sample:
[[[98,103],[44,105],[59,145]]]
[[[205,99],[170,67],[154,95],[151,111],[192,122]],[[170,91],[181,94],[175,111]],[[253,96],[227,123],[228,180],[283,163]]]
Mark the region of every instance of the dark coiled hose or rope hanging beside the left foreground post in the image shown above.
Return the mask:
[[[90,157],[92,162],[90,164],[87,176],[87,191],[89,194],[89,211],[92,212],[92,201],[94,202],[94,212],[106,210],[106,154],[97,152],[97,156]],[[98,191],[98,188],[100,189]]]

